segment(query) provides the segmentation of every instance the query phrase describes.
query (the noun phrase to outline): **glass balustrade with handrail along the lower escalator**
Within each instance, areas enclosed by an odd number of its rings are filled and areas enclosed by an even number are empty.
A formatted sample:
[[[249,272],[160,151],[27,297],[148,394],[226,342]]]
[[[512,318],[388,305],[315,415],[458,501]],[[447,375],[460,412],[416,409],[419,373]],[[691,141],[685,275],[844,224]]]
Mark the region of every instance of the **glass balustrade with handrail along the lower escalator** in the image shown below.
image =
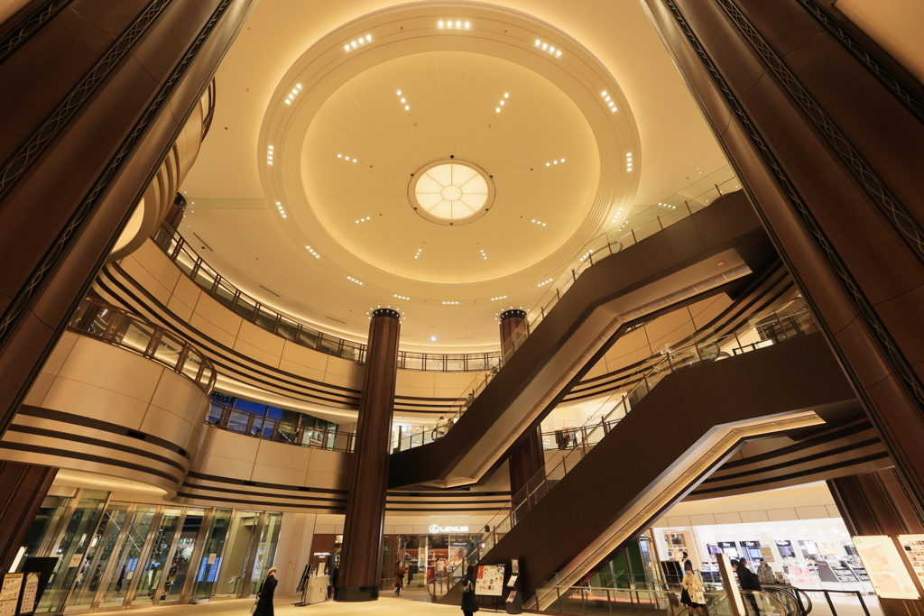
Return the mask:
[[[761,332],[761,330],[766,331]],[[818,327],[808,308],[802,308],[791,315],[779,315],[775,310],[771,310],[769,314],[760,315],[748,329],[734,332],[713,331],[712,335],[717,337],[711,337],[708,340],[691,344],[675,351],[665,351],[663,358],[654,363],[653,366],[644,367],[643,365],[643,367],[638,368],[637,372],[626,377],[626,380],[635,378],[633,381],[636,382],[635,386],[627,393],[617,390],[601,404],[601,408],[611,403],[613,406],[606,412],[605,416],[599,420],[592,420],[586,426],[588,430],[584,438],[576,441],[576,445],[568,450],[564,457],[553,458],[544,465],[538,473],[529,478],[526,485],[517,491],[517,494],[513,495],[510,501],[505,503],[494,514],[487,525],[491,529],[490,532],[486,533],[480,541],[480,547],[483,549],[482,554],[490,551],[513,526],[517,525],[518,520],[522,519],[537,502],[541,501],[548,491],[552,489],[549,485],[550,481],[557,482],[571,472],[583,460],[590,449],[596,443],[602,441],[622,417],[625,417],[633,407],[638,405],[668,374],[718,361],[726,357],[736,356],[738,352],[745,353],[817,331],[819,331]],[[753,335],[754,332],[758,332],[760,344],[742,344],[742,339],[747,341],[747,335]],[[732,353],[722,352],[723,345]],[[708,349],[710,353],[704,353],[704,349]],[[716,350],[720,352],[716,353]],[[640,374],[640,376],[636,377],[636,374]]]

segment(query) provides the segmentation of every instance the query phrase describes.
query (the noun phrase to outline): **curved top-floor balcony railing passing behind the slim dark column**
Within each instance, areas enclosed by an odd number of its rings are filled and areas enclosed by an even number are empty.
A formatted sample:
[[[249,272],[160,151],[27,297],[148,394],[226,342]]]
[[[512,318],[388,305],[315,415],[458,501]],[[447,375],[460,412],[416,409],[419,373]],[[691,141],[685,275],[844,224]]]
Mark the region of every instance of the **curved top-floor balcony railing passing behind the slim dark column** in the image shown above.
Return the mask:
[[[366,361],[366,344],[320,332],[307,325],[283,316],[274,308],[257,301],[231,284],[192,249],[188,242],[170,223],[164,221],[151,236],[154,244],[176,263],[181,272],[208,296],[213,297],[225,308],[257,327],[289,342],[314,351],[349,359],[358,363]],[[501,359],[500,351],[485,353],[418,353],[398,351],[398,369],[424,372],[483,372],[496,368]]]

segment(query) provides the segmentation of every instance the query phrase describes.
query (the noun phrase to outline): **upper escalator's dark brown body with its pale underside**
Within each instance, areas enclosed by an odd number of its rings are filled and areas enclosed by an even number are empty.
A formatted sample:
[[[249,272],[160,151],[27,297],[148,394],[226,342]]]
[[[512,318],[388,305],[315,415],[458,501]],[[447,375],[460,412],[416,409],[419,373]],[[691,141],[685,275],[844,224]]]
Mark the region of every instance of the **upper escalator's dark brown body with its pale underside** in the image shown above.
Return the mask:
[[[597,363],[627,323],[720,292],[775,261],[742,191],[638,244],[597,257],[480,394],[466,402],[443,438],[398,447],[389,489],[479,481]]]

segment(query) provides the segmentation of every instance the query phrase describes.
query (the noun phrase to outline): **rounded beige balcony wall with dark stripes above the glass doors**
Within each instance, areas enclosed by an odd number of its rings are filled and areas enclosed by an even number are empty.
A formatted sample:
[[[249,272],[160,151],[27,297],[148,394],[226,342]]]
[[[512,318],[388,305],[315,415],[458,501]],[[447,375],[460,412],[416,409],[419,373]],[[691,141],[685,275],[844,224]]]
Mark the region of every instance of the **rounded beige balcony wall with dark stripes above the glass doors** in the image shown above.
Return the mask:
[[[173,494],[201,439],[208,396],[130,351],[65,332],[0,441],[8,460],[140,481]]]

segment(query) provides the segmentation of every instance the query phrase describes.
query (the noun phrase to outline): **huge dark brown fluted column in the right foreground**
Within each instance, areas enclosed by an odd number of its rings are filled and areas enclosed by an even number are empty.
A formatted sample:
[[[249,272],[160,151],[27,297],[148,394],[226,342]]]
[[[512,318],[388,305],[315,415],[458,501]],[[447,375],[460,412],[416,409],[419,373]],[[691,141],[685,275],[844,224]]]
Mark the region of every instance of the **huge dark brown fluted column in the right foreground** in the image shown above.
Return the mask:
[[[924,94],[818,0],[644,0],[924,510]]]

